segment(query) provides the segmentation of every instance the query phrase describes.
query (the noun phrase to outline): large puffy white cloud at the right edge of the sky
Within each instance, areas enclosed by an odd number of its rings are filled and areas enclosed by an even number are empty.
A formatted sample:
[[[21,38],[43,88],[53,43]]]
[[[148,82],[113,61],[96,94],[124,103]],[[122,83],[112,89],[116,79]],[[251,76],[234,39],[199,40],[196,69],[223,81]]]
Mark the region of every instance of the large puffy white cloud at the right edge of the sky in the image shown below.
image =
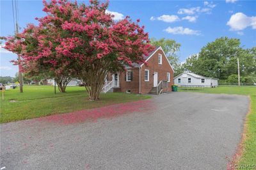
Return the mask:
[[[241,31],[250,26],[252,26],[252,29],[256,29],[256,16],[248,17],[244,13],[239,12],[230,17],[227,25],[230,26],[230,31]]]

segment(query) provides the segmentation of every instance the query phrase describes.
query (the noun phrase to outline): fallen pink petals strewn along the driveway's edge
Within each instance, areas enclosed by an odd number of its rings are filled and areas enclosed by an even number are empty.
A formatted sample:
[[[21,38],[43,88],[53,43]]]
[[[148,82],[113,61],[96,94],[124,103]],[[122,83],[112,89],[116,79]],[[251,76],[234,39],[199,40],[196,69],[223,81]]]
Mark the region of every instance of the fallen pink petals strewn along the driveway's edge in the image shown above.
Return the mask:
[[[72,123],[82,123],[88,120],[97,122],[99,118],[113,118],[113,116],[118,116],[120,114],[150,111],[152,109],[154,109],[154,104],[151,100],[139,100],[136,102],[113,104],[95,109],[68,112],[64,114],[54,114],[52,116],[36,118],[35,120],[67,125]]]

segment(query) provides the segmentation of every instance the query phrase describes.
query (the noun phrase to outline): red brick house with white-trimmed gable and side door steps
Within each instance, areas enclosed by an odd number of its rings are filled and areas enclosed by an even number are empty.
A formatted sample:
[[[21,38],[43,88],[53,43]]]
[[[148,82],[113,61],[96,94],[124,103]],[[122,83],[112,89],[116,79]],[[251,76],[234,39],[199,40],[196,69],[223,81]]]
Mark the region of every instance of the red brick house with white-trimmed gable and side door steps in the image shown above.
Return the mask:
[[[173,68],[162,47],[157,47],[148,56],[145,64],[127,67],[127,72],[109,73],[103,91],[159,94],[172,91]]]

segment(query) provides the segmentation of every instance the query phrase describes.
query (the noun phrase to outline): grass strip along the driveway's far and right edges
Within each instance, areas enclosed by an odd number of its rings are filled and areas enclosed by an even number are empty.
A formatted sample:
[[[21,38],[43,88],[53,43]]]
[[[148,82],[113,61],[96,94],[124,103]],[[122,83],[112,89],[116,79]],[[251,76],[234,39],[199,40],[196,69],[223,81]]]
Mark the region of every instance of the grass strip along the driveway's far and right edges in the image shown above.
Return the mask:
[[[251,110],[246,119],[246,132],[243,141],[243,155],[239,158],[240,165],[256,164],[256,86],[219,86],[218,88],[179,88],[179,91],[202,93],[227,93],[248,95],[251,99]]]

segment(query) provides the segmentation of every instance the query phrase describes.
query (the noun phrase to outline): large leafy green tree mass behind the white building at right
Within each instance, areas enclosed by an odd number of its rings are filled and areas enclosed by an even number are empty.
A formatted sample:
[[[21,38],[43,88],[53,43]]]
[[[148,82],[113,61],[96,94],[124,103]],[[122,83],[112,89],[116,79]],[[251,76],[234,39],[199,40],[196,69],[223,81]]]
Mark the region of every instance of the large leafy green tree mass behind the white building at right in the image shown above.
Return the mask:
[[[239,39],[221,37],[207,43],[198,54],[188,58],[185,68],[191,72],[227,79],[237,74],[237,58],[240,61],[241,76],[255,72],[255,49],[243,49]]]

